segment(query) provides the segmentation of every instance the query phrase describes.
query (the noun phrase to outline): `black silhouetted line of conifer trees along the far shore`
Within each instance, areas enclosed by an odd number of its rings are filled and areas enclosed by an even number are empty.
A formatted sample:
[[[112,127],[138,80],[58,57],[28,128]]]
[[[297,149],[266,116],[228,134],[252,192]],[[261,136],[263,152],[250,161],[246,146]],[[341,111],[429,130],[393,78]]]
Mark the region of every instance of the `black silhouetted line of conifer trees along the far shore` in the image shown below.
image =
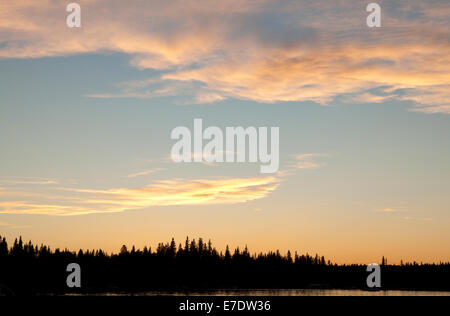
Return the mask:
[[[68,288],[69,263],[81,267],[81,288]],[[382,258],[383,289],[450,290],[450,263],[388,265]],[[324,256],[250,254],[247,247],[218,251],[202,238],[184,244],[159,243],[153,250],[123,245],[117,254],[99,250],[51,250],[0,236],[0,294],[37,295],[145,291],[189,292],[214,289],[361,288],[365,265],[338,265]]]

